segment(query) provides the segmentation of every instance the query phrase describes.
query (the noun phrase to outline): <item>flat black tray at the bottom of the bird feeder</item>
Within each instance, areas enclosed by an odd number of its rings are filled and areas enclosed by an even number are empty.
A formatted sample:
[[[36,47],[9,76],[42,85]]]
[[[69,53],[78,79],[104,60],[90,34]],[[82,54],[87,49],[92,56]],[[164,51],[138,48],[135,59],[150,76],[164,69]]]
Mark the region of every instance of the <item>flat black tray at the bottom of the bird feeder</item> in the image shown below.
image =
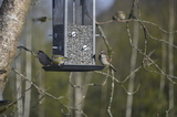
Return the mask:
[[[101,71],[104,65],[51,65],[43,66],[44,71],[53,72],[88,72],[88,71]]]

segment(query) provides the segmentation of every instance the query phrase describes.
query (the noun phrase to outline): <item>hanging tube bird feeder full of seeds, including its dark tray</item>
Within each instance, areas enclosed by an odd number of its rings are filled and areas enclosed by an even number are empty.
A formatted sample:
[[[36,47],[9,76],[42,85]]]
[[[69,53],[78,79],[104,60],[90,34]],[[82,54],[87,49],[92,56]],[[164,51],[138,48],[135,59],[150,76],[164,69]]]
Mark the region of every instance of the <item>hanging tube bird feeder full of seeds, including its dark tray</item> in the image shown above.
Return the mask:
[[[67,60],[45,71],[98,71],[95,65],[95,0],[53,0],[53,55]]]

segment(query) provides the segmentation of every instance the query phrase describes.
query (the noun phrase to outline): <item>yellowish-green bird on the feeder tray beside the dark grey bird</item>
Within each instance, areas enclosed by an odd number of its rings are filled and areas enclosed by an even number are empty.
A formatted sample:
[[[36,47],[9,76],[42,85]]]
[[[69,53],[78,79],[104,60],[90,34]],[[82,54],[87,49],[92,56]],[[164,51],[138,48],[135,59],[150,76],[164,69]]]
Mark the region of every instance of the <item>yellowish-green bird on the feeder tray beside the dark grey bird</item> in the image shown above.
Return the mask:
[[[53,55],[52,56],[52,61],[54,64],[56,65],[62,65],[64,64],[64,62],[67,60],[67,57],[63,56],[63,55]]]

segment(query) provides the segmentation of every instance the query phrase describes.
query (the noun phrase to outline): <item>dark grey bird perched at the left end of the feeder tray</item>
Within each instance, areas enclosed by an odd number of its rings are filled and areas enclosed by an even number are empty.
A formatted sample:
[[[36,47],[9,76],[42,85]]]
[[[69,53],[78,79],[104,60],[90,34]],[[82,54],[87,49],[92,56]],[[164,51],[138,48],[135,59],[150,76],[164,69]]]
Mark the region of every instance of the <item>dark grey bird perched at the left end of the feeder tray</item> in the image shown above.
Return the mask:
[[[38,51],[38,59],[44,66],[53,64],[52,60],[43,51]]]

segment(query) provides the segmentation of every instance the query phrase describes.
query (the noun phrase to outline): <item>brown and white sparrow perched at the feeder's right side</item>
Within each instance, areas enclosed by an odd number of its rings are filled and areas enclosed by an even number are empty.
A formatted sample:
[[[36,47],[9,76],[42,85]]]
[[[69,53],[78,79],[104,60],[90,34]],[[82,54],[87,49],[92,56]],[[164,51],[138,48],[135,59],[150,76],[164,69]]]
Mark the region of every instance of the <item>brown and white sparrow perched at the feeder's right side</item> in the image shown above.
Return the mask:
[[[111,68],[113,68],[114,72],[116,72],[116,68],[112,65],[110,57],[104,51],[100,52],[98,60],[102,65],[110,66]]]

